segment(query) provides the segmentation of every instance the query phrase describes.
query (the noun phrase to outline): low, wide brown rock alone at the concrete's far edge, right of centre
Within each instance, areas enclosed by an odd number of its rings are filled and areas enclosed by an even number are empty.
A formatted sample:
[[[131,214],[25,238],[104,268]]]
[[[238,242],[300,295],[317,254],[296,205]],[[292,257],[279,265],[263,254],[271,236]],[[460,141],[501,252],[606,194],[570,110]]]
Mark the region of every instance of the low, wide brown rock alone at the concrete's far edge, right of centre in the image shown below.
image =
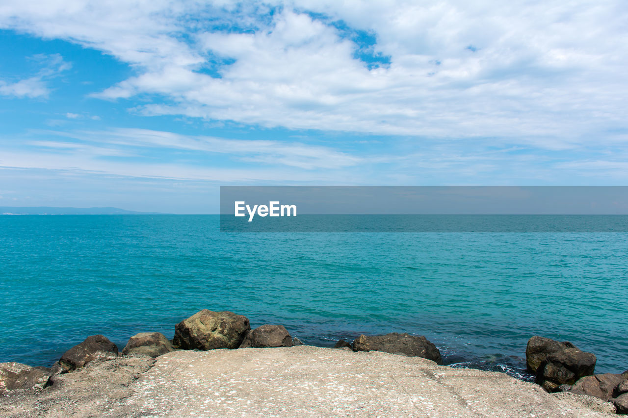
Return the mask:
[[[443,364],[440,351],[425,336],[390,333],[386,335],[360,335],[353,344],[357,351],[384,351],[385,353],[403,353],[419,356]]]

